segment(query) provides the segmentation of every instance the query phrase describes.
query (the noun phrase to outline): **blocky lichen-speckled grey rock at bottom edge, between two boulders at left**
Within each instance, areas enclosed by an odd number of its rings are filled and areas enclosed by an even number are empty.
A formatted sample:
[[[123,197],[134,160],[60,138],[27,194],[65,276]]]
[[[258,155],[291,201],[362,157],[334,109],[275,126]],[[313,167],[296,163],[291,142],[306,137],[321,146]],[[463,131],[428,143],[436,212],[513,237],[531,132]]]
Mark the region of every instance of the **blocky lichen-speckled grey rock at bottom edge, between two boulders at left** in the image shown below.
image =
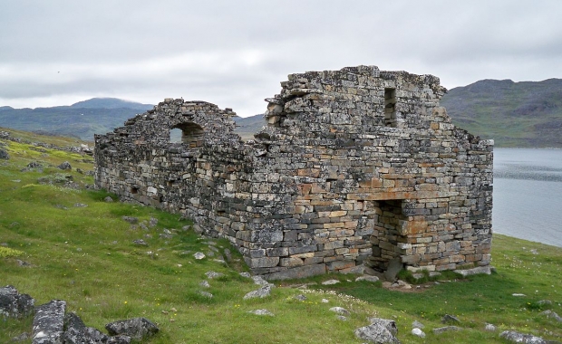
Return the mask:
[[[53,300],[37,307],[34,315],[34,344],[63,344],[66,301]]]

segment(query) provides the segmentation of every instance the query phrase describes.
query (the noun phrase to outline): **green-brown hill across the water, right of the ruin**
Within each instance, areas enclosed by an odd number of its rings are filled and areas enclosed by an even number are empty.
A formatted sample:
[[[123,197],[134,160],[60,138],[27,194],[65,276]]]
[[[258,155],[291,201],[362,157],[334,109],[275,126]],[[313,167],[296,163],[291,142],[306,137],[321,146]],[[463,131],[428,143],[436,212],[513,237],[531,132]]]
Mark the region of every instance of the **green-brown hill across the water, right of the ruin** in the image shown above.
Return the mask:
[[[441,99],[452,121],[496,147],[562,148],[562,80],[482,80]]]

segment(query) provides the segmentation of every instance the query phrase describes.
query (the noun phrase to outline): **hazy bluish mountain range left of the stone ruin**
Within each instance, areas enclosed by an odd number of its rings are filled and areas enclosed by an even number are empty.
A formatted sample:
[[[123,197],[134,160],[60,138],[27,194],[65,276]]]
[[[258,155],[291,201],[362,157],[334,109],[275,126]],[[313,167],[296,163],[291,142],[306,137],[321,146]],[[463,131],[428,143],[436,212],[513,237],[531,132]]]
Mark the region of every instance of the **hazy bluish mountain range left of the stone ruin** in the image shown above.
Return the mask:
[[[92,141],[94,133],[103,134],[121,127],[125,120],[152,107],[115,98],[93,98],[53,108],[13,109],[4,106],[0,108],[0,125]]]

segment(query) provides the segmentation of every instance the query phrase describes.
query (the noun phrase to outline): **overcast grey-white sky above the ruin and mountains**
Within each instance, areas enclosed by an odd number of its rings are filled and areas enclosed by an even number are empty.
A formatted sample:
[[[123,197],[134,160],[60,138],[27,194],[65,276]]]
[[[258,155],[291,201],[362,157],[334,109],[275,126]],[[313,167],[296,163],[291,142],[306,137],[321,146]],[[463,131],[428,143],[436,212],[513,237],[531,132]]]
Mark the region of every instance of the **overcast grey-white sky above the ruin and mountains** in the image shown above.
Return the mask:
[[[562,78],[561,15],[559,0],[0,0],[0,106],[173,97],[247,117],[289,73],[360,64],[448,89]]]

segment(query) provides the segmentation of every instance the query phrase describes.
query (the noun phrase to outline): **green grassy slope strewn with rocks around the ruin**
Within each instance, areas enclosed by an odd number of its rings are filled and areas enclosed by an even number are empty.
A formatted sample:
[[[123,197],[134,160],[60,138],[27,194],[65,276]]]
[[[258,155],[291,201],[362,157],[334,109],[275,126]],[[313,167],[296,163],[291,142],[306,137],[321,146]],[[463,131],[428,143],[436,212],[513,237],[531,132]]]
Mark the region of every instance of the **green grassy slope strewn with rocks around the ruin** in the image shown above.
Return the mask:
[[[102,330],[112,320],[144,316],[158,322],[161,330],[150,343],[360,343],[354,339],[354,329],[367,325],[366,318],[376,315],[395,319],[398,337],[404,343],[502,342],[499,331],[483,331],[485,322],[498,325],[500,330],[532,332],[548,339],[562,336],[560,324],[540,316],[538,306],[538,301],[547,299],[554,302],[547,308],[562,314],[559,248],[496,235],[493,263],[498,272],[491,276],[431,284],[418,292],[347,282],[354,276],[319,276],[298,283],[330,278],[342,283],[323,286],[322,290],[318,285],[311,287],[306,292],[307,301],[293,299],[304,291],[287,287],[275,288],[272,296],[263,300],[243,301],[242,297],[257,286],[238,275],[245,267],[228,242],[182,231],[189,222],[179,220],[178,215],[139,205],[105,203],[102,200],[107,194],[102,191],[38,185],[39,177],[61,171],[44,167],[43,172],[21,172],[31,161],[56,166],[68,160],[74,169],[83,170],[92,169],[92,164],[82,162],[84,157],[79,155],[49,149],[42,153],[24,144],[7,144],[12,158],[0,161],[0,243],[22,253],[17,257],[0,254],[0,285],[14,285],[18,291],[31,294],[36,304],[63,299],[68,310],[77,312],[88,326]],[[92,184],[92,177],[74,169],[69,174],[75,182]],[[77,203],[88,206],[74,206]],[[133,229],[121,219],[123,215],[141,221],[155,217],[159,223],[146,231]],[[161,239],[165,228],[176,229],[177,234]],[[149,245],[132,244],[139,238]],[[193,253],[214,252],[209,243],[216,243],[215,257],[229,248],[233,261],[218,263],[214,257],[195,260]],[[19,266],[16,259],[33,266]],[[209,280],[208,291],[214,295],[210,300],[198,293],[205,290],[199,282],[207,279],[208,271],[225,274]],[[338,296],[337,292],[353,297]],[[515,292],[527,296],[514,297]],[[350,319],[336,320],[328,311],[334,306],[353,311]],[[247,313],[257,309],[267,309],[276,316]],[[445,313],[459,316],[460,326],[466,330],[431,334],[431,329],[442,326]],[[425,340],[410,334],[413,320],[426,325]],[[0,321],[0,342],[29,330],[30,324],[30,319]]]

